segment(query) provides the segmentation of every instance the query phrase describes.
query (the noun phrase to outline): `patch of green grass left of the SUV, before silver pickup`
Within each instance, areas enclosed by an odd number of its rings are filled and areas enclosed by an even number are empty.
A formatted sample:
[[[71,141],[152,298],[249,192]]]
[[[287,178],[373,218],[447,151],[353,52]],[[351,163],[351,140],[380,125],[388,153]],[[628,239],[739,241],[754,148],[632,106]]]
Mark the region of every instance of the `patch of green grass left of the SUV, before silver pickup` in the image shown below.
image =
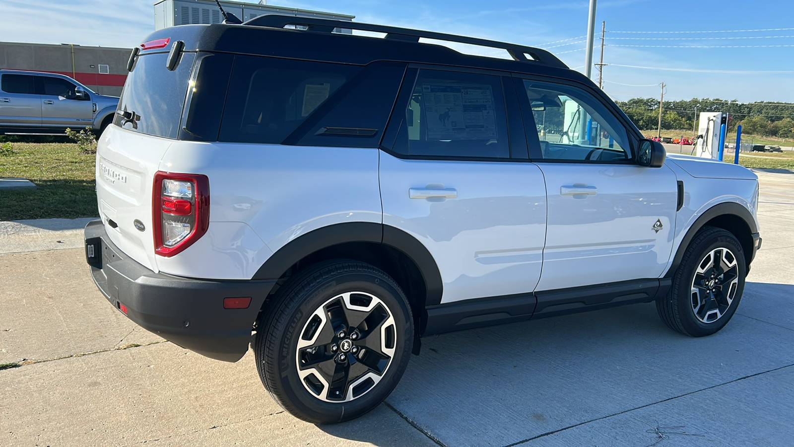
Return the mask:
[[[13,142],[0,156],[0,177],[22,177],[35,191],[0,191],[0,220],[98,216],[93,154],[73,143]]]

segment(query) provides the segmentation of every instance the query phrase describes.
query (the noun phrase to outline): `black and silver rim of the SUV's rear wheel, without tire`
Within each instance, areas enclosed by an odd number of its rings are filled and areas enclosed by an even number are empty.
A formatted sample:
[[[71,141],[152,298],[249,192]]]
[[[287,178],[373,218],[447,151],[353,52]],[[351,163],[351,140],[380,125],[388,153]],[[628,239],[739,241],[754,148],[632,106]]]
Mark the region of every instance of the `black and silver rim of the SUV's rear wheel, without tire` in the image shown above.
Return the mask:
[[[395,320],[383,301],[342,293],[314,311],[300,333],[297,367],[303,386],[326,402],[364,395],[380,381],[395,352]]]

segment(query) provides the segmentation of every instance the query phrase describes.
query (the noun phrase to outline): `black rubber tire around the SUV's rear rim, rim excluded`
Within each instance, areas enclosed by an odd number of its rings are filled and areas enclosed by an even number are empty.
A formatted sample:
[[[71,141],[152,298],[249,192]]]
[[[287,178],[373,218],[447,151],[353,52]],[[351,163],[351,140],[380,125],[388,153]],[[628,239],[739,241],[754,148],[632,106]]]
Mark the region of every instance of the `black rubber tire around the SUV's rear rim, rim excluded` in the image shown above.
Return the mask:
[[[352,291],[351,286],[388,305],[402,346],[398,344],[384,378],[372,390],[350,402],[324,402],[300,383],[294,337],[305,325],[307,313],[314,313],[322,301],[341,293],[338,290]],[[307,422],[341,422],[367,413],[387,398],[407,367],[414,336],[410,305],[394,279],[375,266],[353,260],[320,262],[289,278],[266,307],[260,313],[253,343],[256,369],[272,398]]]

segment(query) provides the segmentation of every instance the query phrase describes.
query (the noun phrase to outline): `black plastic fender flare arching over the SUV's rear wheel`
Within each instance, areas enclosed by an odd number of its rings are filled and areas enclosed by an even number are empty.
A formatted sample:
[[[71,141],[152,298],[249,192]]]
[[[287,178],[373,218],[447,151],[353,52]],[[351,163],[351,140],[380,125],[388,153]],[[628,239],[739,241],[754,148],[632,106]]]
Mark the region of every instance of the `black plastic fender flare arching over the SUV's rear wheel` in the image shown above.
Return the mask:
[[[341,243],[380,243],[401,251],[412,260],[422,274],[426,286],[425,305],[441,303],[443,283],[441,272],[430,251],[414,236],[396,227],[374,222],[334,223],[309,231],[279,248],[256,270],[251,279],[278,279],[295,262],[323,248]]]

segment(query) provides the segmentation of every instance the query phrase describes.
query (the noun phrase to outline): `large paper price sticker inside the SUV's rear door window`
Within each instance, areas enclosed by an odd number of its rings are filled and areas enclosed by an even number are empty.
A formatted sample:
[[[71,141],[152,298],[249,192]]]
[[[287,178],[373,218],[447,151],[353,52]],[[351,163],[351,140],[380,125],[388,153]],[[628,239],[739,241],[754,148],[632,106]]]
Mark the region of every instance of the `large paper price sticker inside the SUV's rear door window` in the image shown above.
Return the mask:
[[[427,138],[496,138],[494,99],[488,84],[422,84]]]

